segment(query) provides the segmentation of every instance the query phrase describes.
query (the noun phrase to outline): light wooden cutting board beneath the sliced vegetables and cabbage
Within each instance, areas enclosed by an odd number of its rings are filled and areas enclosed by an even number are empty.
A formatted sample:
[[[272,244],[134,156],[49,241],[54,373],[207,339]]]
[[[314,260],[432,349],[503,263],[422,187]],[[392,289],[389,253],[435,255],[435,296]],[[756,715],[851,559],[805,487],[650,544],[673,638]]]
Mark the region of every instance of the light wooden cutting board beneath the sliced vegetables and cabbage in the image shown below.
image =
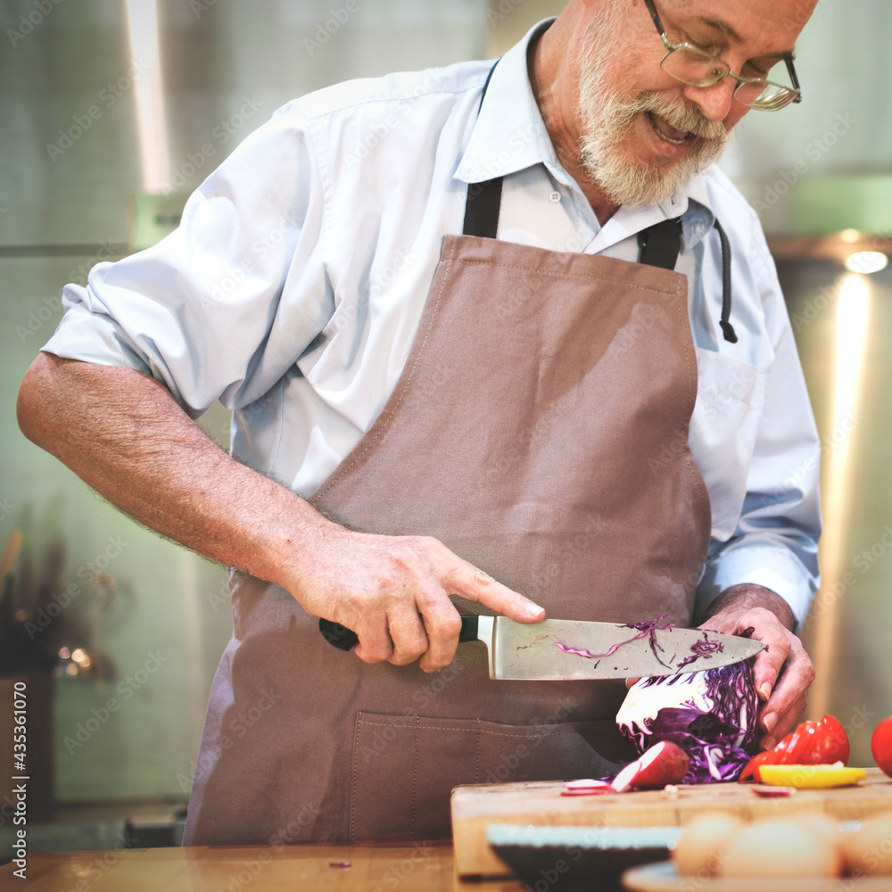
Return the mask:
[[[460,876],[506,873],[486,842],[490,824],[573,827],[660,827],[684,824],[706,809],[725,809],[745,820],[797,812],[824,812],[839,821],[892,811],[892,780],[879,768],[854,787],[800,789],[786,798],[763,797],[754,784],[680,787],[677,793],[640,790],[599,796],[561,796],[559,780],[475,784],[452,790],[452,838]]]

